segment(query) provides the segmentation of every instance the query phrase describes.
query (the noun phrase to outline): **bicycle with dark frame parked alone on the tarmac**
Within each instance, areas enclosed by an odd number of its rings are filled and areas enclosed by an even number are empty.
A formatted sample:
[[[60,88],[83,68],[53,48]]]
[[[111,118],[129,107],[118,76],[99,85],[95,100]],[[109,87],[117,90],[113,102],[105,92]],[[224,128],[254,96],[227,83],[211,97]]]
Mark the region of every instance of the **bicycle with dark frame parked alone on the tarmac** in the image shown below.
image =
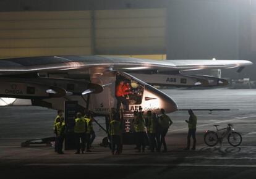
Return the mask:
[[[233,125],[228,124],[227,128],[222,128],[218,130],[219,125],[213,125],[216,127],[216,131],[207,130],[204,136],[205,144],[208,146],[215,146],[220,143],[222,146],[223,138],[228,136],[228,143],[231,146],[239,146],[242,143],[242,136],[240,133],[234,131]],[[223,132],[222,132],[223,131]]]

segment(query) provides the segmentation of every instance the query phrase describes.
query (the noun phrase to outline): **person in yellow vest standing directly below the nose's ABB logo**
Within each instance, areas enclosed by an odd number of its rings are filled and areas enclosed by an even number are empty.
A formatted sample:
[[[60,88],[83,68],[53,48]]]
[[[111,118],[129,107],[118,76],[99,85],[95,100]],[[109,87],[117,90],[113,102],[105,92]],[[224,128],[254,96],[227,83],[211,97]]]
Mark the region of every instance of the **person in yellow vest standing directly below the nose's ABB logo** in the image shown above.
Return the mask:
[[[134,112],[134,130],[138,152],[145,152],[145,119],[142,112]]]

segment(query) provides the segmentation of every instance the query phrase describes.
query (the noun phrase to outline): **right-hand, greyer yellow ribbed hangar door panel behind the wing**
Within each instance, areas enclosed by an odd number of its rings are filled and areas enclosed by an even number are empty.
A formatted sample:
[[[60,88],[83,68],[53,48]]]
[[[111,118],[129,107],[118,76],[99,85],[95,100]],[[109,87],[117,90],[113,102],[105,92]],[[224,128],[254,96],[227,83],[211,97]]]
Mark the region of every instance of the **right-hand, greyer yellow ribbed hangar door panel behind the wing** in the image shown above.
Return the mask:
[[[95,53],[166,54],[166,9],[95,11]]]

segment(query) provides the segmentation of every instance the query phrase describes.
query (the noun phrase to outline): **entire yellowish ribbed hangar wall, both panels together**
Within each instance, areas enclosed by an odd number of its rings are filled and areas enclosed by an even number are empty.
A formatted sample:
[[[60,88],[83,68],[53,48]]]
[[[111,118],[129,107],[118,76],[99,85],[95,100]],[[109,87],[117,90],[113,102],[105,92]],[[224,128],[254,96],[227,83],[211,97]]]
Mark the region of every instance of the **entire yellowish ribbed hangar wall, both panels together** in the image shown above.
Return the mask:
[[[165,52],[166,9],[0,12],[0,58]]]

